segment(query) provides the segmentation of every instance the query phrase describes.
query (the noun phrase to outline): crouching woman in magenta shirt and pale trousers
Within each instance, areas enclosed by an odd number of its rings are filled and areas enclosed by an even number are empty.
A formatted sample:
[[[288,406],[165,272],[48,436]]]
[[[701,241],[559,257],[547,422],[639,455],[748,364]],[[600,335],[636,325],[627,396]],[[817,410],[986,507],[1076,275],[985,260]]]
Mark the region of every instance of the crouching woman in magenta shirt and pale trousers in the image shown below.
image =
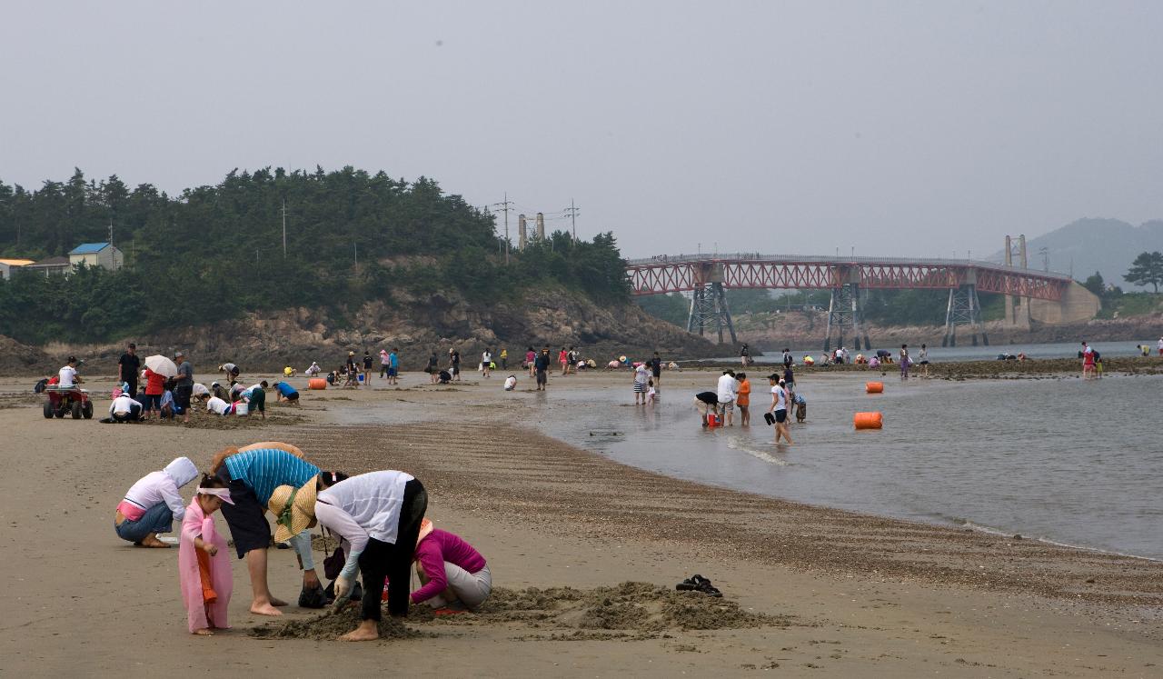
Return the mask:
[[[493,591],[485,557],[458,535],[430,528],[426,521],[420,529],[415,559],[422,586],[412,593],[412,602],[427,601],[433,608],[459,602],[476,609]]]

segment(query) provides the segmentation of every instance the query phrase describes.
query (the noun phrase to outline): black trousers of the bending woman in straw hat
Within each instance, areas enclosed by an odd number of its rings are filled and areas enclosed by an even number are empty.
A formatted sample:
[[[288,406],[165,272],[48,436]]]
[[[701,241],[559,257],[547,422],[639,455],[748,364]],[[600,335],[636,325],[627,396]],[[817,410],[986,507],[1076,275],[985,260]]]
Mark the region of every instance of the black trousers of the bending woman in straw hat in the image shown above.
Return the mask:
[[[412,479],[404,485],[395,544],[368,538],[368,546],[359,555],[359,573],[364,582],[362,620],[380,620],[384,578],[391,578],[387,584],[387,612],[394,616],[407,615],[412,557],[420,537],[420,521],[427,509],[428,492],[419,479]]]

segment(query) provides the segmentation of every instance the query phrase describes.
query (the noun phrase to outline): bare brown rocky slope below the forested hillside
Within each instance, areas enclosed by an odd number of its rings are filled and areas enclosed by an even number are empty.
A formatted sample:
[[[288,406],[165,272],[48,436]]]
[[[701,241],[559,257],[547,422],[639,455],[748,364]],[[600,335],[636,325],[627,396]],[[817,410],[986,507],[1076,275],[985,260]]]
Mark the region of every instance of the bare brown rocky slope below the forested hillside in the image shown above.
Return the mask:
[[[293,308],[126,341],[136,342],[142,356],[183,349],[202,374],[226,360],[244,371],[277,371],[284,365],[304,370],[312,360],[329,370],[341,365],[348,351],[362,357],[365,350],[374,355],[384,348],[400,349],[405,370],[422,367],[431,351],[443,363],[454,346],[470,365],[476,365],[486,346],[494,353],[508,349],[511,365],[520,363],[527,346],[547,344],[555,357],[562,346],[577,346],[584,357],[601,363],[621,355],[645,358],[654,351],[668,360],[716,352],[711,342],[659,321],[636,305],[598,306],[584,295],[561,290],[538,290],[492,305],[470,305],[450,292],[416,296],[399,291],[390,300],[342,314]],[[110,373],[116,371],[123,345],[70,350],[86,358],[87,371]]]

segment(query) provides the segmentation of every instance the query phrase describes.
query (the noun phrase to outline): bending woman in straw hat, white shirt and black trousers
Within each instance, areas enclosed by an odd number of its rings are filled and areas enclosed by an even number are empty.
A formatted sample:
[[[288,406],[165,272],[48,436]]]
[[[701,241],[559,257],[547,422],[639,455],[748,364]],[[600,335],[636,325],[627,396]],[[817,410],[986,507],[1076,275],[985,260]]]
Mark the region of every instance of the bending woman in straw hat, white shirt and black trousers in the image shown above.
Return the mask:
[[[393,470],[359,474],[333,486],[319,477],[292,491],[276,489],[285,509],[274,539],[305,534],[316,523],[338,535],[347,560],[335,580],[335,598],[343,599],[351,591],[357,569],[364,584],[359,627],[340,639],[379,638],[385,578],[388,613],[394,617],[408,613],[409,571],[428,509],[427,491],[412,474]]]

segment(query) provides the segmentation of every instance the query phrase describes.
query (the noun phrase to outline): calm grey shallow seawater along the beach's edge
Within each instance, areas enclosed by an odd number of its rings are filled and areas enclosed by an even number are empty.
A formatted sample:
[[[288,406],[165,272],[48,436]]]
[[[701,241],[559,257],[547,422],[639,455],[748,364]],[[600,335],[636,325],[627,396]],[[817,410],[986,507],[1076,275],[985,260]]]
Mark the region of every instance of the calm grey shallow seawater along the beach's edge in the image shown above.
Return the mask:
[[[866,378],[801,377],[808,417],[792,426],[792,446],[773,445],[761,385],[750,428],[701,428],[691,389],[635,407],[620,387],[557,391],[563,407],[538,426],[677,478],[1163,558],[1163,377],[901,384],[890,373],[876,395]],[[884,413],[884,429],[854,430],[858,410]]]

